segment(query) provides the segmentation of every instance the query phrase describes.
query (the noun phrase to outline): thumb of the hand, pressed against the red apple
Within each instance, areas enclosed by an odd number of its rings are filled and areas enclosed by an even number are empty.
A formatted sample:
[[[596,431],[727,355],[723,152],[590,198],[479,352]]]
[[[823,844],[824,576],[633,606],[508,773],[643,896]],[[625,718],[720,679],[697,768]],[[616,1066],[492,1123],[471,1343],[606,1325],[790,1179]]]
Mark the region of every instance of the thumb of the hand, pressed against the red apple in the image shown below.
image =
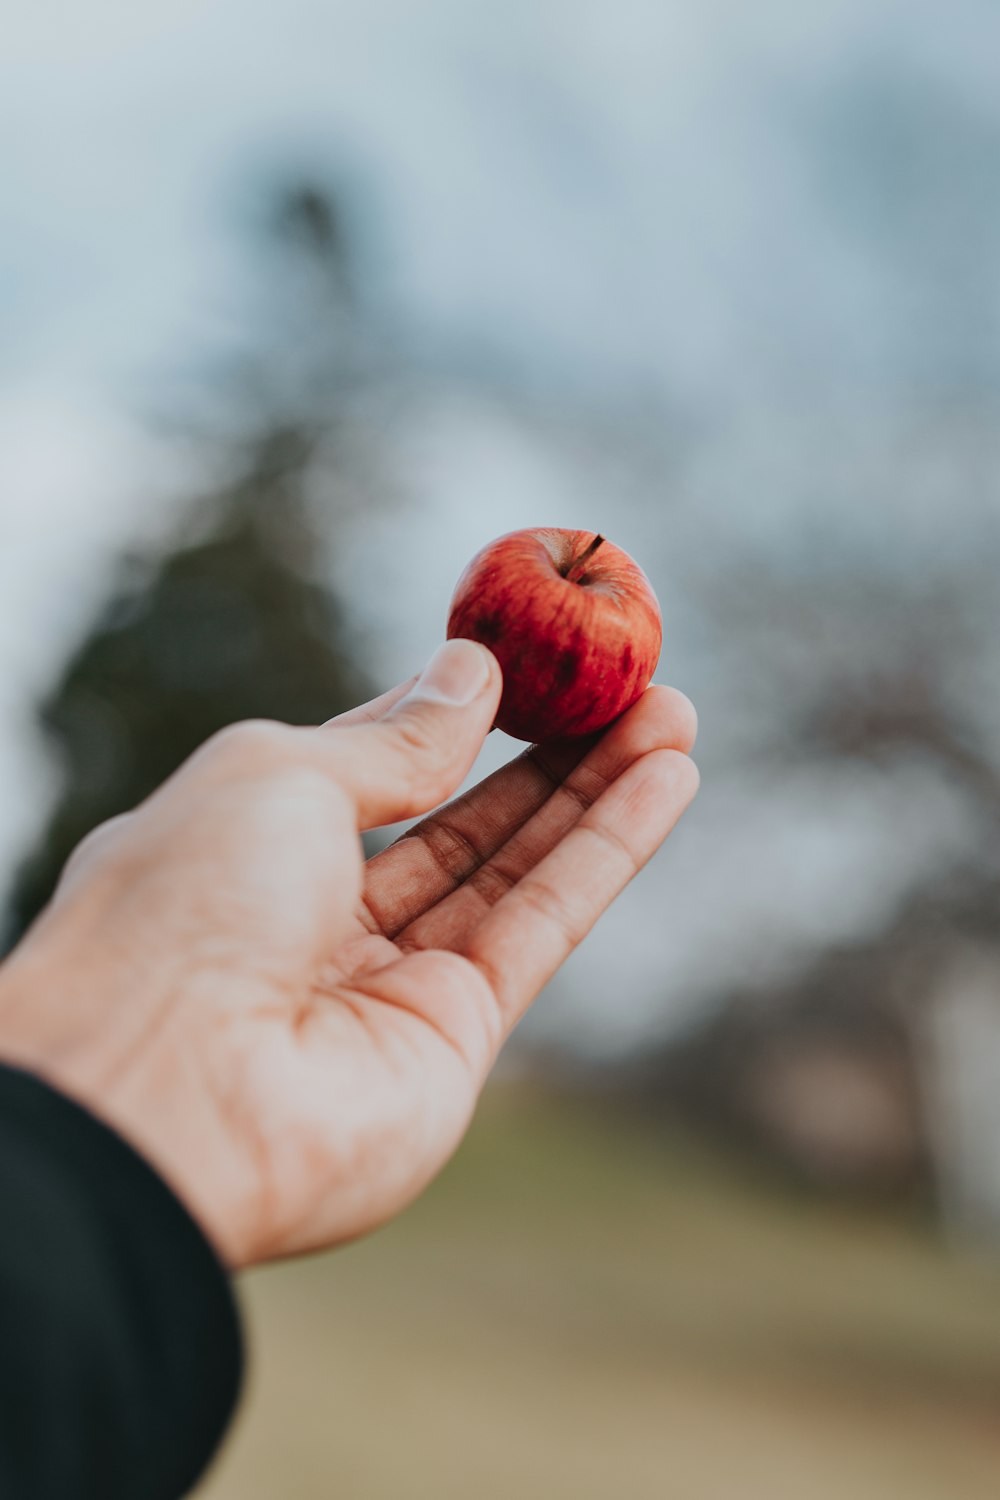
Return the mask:
[[[415,818],[451,796],[490,730],[501,687],[492,651],[447,640],[384,718],[319,730],[358,828]]]

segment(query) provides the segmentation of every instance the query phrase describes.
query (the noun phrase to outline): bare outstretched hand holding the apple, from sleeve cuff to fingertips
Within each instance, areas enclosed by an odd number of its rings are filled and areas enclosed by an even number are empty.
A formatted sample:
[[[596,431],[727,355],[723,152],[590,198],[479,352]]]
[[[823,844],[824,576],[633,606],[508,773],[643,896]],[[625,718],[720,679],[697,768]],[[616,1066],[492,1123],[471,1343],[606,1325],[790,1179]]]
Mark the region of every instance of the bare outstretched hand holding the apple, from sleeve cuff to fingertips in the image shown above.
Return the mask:
[[[366,864],[360,831],[456,792],[499,694],[492,654],[451,640],[321,728],[223,730],[81,843],[0,968],[0,1056],[132,1142],[232,1268],[421,1191],[505,1036],[694,796],[694,711],[654,687]]]

